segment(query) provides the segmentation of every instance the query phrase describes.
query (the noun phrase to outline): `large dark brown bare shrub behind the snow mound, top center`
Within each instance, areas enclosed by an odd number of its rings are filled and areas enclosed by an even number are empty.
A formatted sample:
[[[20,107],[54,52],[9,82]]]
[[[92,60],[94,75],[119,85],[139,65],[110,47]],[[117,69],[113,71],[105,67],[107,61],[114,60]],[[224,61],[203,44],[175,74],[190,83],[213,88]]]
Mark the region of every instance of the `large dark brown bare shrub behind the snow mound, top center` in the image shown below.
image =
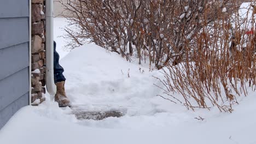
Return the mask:
[[[71,49],[92,42],[107,50],[146,61],[161,69],[183,61],[203,26],[212,25],[235,0],[75,0],[63,3],[73,28],[66,28]],[[240,2],[240,1],[238,1]],[[240,2],[241,3],[241,2]]]

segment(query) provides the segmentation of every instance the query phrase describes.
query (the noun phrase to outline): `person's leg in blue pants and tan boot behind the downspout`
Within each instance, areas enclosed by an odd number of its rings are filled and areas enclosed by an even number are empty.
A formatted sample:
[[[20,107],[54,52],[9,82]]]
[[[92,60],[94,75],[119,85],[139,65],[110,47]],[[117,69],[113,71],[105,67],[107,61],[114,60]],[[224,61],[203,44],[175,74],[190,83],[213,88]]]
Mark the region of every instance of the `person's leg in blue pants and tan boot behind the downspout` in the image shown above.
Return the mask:
[[[70,106],[70,101],[68,100],[65,92],[65,81],[66,78],[63,76],[64,69],[61,67],[59,53],[56,51],[56,43],[54,41],[54,82],[57,87],[57,92],[55,94],[55,101],[59,103],[60,107]]]

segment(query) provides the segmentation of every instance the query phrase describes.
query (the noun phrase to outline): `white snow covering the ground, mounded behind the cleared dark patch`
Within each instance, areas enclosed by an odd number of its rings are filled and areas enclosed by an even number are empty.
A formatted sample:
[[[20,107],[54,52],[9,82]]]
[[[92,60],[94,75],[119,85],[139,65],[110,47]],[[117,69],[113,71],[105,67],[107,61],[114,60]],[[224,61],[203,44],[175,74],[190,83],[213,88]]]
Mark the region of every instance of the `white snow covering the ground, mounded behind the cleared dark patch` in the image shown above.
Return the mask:
[[[58,27],[65,21],[55,20]],[[56,39],[57,44],[65,45]],[[119,110],[125,115],[79,121],[69,107],[60,109],[46,95],[43,104],[26,106],[10,119],[0,130],[1,144],[256,143],[255,92],[241,97],[232,113],[220,113],[217,108],[193,112],[156,96],[162,91],[153,85],[160,85],[153,76],[162,75],[149,71],[147,64],[129,63],[94,44],[69,53],[61,50],[57,48],[72,104],[83,105],[86,111]],[[199,117],[204,120],[197,120]]]

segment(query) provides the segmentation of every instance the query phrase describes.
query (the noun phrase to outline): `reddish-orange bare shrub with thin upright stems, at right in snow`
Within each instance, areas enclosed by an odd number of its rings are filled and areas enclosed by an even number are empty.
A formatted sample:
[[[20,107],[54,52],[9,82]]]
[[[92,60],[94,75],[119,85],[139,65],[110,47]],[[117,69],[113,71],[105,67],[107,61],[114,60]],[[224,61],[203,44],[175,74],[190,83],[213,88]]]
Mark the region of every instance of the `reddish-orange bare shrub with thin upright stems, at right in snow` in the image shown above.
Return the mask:
[[[166,86],[165,94],[181,94],[178,102],[188,109],[217,106],[220,111],[231,112],[232,104],[238,103],[237,96],[255,91],[252,11],[251,7],[247,13],[237,11],[230,17],[220,14],[212,26],[203,26],[190,48],[184,49],[183,63],[163,69],[165,79],[159,80]],[[170,99],[177,101],[177,97]]]

